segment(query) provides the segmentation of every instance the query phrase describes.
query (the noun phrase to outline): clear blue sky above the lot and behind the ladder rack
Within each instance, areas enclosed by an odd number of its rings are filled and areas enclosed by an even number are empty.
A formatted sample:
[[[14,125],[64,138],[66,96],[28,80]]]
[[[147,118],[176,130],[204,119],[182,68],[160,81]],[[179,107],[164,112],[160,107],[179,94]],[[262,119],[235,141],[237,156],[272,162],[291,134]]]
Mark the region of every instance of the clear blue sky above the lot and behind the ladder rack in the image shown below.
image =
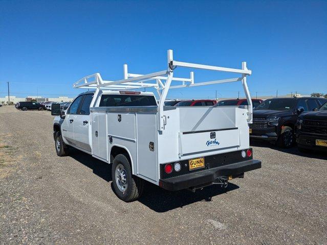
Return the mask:
[[[252,95],[327,93],[327,1],[0,1],[0,97],[82,92],[99,72],[122,79],[179,61],[241,68]],[[187,76],[178,68],[175,76]],[[195,81],[233,78],[194,70]],[[170,90],[168,97],[237,97],[240,83]]]

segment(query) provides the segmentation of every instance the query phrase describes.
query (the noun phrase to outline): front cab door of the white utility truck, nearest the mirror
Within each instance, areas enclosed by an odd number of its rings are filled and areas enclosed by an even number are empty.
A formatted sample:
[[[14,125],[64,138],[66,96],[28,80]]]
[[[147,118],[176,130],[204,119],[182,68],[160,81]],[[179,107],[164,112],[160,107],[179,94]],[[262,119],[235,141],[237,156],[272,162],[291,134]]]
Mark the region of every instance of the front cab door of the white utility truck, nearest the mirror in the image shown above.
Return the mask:
[[[74,121],[76,121],[77,110],[80,106],[80,103],[84,95],[79,95],[68,108],[66,117],[64,118],[61,125],[61,134],[62,137],[71,145],[76,145],[74,140]]]

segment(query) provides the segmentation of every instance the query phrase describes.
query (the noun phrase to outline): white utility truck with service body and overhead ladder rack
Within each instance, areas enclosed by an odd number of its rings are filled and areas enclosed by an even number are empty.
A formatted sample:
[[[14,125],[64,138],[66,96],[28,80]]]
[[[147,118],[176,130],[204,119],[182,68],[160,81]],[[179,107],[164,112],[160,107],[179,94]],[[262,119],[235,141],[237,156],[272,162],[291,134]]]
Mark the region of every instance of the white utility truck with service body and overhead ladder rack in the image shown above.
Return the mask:
[[[183,67],[240,76],[198,83],[193,72],[189,78],[173,76]],[[162,71],[130,74],[124,65],[122,80],[105,81],[98,73],[84,77],[73,87],[92,92],[78,95],[66,111],[52,105],[57,155],[67,156],[73,147],[112,163],[114,190],[126,202],[140,197],[144,181],[166,190],[227,186],[229,180],[261,167],[249,147],[248,75],[246,62],[241,69],[185,63],[173,60],[168,50]],[[164,106],[169,89],[237,81],[242,82],[249,106]],[[157,90],[159,102],[152,92],[135,91],[146,87]]]

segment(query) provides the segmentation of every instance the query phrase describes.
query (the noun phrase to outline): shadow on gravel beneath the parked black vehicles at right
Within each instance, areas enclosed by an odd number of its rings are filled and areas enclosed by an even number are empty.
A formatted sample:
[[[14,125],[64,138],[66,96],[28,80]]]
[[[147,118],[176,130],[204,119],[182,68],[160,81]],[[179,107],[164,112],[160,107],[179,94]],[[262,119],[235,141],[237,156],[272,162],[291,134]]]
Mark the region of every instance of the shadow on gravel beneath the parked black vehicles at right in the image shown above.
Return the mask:
[[[309,157],[309,158],[316,158],[316,159],[322,159],[322,160],[327,160],[327,156],[323,154],[322,152],[319,151],[309,151],[308,153],[302,153],[297,149],[297,146],[293,146],[292,148],[289,149],[284,149],[284,148],[279,148],[278,146],[266,142],[266,141],[259,141],[259,140],[250,140],[250,145],[251,146],[256,146],[256,147],[266,147],[270,149],[274,149],[279,152],[284,152],[284,153],[289,153],[301,157]]]

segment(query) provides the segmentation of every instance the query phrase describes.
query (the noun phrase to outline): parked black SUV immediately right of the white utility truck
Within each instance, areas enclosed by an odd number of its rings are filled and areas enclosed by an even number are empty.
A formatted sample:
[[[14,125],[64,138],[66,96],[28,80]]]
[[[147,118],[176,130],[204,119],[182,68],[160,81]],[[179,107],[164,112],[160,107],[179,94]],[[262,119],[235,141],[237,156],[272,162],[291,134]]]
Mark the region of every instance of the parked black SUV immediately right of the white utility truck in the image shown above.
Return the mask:
[[[295,124],[303,111],[312,111],[327,102],[323,98],[274,98],[261,103],[253,110],[250,139],[267,140],[283,148],[295,142]]]

